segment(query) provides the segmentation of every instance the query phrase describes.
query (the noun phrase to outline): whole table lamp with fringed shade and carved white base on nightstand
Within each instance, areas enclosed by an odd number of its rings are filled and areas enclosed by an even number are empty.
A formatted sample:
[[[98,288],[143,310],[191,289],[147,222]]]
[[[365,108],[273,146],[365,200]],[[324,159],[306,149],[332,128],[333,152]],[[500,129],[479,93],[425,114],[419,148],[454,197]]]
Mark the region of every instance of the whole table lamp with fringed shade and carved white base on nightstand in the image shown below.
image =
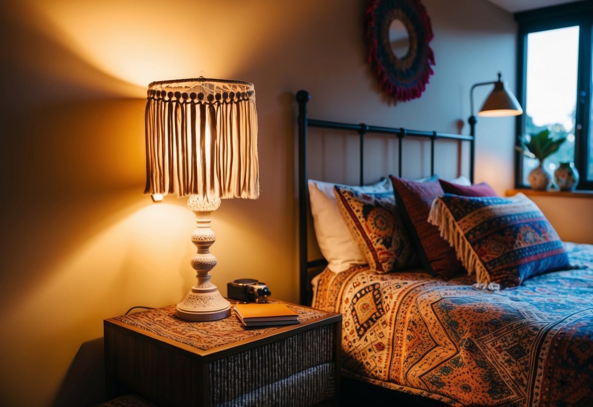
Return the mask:
[[[253,84],[208,78],[148,85],[145,112],[146,188],[153,196],[188,196],[196,214],[192,267],[197,284],[177,304],[176,316],[213,321],[231,313],[210,282],[216,257],[211,214],[221,199],[259,196],[257,113]],[[158,199],[158,198],[157,198]]]

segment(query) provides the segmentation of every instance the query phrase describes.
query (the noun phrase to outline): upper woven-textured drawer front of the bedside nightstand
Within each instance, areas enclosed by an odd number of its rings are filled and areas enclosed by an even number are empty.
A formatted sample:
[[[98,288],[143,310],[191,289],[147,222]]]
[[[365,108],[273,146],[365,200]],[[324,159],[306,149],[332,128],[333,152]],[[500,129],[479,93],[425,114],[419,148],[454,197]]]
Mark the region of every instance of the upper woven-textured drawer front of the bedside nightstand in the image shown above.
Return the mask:
[[[237,399],[309,368],[333,362],[331,333],[330,325],[320,326],[213,361],[209,365],[212,405]]]

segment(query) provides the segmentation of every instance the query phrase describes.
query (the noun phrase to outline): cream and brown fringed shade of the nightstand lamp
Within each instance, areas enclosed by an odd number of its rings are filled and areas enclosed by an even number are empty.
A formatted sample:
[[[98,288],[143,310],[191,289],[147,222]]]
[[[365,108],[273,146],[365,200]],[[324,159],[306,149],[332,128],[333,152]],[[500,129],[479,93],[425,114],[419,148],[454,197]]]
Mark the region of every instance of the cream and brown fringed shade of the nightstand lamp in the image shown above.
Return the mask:
[[[144,193],[206,201],[259,196],[253,84],[158,81],[148,85],[147,99]]]

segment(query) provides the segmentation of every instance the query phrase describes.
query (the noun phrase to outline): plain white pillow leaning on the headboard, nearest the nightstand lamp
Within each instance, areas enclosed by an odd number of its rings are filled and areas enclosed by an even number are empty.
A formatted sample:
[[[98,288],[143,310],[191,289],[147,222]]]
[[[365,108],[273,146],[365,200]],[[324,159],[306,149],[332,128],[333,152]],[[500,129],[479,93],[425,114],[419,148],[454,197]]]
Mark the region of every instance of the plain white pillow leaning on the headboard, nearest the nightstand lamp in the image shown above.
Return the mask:
[[[309,200],[315,236],[321,254],[333,272],[346,271],[353,265],[366,264],[365,256],[350,234],[334,195],[334,185],[345,186],[357,192],[384,192],[393,190],[389,179],[366,186],[352,186],[309,180]]]

